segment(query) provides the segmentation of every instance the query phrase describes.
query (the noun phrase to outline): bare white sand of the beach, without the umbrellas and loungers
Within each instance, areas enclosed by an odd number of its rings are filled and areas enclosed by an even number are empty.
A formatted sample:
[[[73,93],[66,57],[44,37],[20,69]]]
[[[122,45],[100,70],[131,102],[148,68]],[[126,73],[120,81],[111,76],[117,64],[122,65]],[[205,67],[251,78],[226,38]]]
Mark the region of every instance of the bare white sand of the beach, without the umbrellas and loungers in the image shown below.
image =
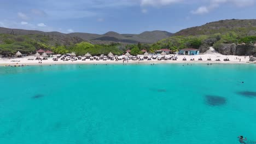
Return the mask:
[[[171,55],[173,56],[173,55]],[[226,55],[221,55],[218,52],[215,52],[213,49],[208,50],[205,53],[202,53],[201,55],[195,55],[195,56],[189,56],[189,55],[176,55],[177,56],[177,61],[172,61],[172,60],[161,60],[158,61],[157,59],[152,59],[152,61],[133,61],[129,60],[128,62],[125,61],[124,63],[131,63],[131,64],[143,64],[143,63],[225,63],[225,64],[235,64],[235,63],[241,63],[241,64],[246,64],[246,63],[252,63],[249,62],[249,56],[226,56]],[[151,57],[151,56],[149,56]],[[77,60],[77,61],[53,61],[53,58],[56,58],[56,56],[48,58],[47,60],[43,60],[42,64],[123,64],[123,60],[120,61],[110,61],[108,59],[107,61],[103,61],[102,59],[100,61],[90,61],[90,59],[86,59],[86,61],[82,60]],[[187,58],[187,61],[183,61],[183,58]],[[190,61],[190,59],[195,59],[195,61]],[[203,61],[198,61],[199,58],[202,58]],[[211,58],[212,61],[207,61],[208,58]],[[223,61],[223,59],[229,58],[230,61]],[[34,56],[27,56],[27,57],[22,57],[22,58],[0,58],[0,65],[42,65],[41,63],[38,63],[38,60],[28,60],[28,59],[36,59]],[[220,59],[220,61],[215,61],[216,59]],[[241,62],[240,60],[241,59]],[[20,61],[20,62],[11,62],[11,61]]]

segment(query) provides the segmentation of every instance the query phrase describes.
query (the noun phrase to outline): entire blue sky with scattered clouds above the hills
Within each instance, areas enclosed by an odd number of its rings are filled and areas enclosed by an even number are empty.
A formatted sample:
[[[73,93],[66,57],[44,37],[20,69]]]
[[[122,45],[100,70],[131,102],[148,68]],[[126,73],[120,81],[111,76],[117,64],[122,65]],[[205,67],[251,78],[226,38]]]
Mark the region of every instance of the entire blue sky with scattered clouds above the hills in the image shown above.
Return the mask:
[[[2,0],[0,27],[103,34],[178,32],[224,19],[255,19],[256,0]]]

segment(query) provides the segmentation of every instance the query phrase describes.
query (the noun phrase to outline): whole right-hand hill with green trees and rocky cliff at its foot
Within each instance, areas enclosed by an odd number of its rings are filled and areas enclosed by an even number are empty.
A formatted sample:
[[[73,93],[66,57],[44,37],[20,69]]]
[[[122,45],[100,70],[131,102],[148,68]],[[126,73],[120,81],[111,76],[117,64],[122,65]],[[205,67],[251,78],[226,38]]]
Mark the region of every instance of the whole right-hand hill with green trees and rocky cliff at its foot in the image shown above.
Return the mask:
[[[223,55],[254,55],[256,20],[221,20],[183,29],[153,44],[156,49],[173,51],[191,47],[201,53],[213,46]]]

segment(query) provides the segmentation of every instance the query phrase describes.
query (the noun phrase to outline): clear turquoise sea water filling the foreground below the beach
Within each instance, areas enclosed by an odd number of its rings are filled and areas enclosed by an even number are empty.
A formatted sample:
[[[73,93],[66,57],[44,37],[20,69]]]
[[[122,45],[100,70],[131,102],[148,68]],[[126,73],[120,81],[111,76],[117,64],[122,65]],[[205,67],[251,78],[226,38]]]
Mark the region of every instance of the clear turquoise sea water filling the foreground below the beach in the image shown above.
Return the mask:
[[[255,65],[0,67],[0,88],[0,143],[256,141]]]

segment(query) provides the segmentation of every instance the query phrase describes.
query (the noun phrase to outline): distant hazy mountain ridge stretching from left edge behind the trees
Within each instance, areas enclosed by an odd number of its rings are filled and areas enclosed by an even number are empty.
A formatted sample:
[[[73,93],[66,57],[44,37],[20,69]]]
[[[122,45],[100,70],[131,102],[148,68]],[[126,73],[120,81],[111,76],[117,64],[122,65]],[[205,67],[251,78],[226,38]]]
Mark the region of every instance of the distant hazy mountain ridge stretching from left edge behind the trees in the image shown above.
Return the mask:
[[[91,33],[60,33],[60,32],[42,32],[34,30],[25,30],[25,29],[11,29],[0,27],[0,33],[5,34],[18,34],[18,35],[27,35],[27,34],[40,34],[40,35],[50,35],[53,37],[65,37],[72,38],[77,37],[79,39],[90,41],[91,43],[156,43],[161,39],[168,38],[172,33],[166,31],[152,31],[152,32],[143,32],[141,34],[119,34],[116,32],[107,32],[105,34],[91,34]]]

